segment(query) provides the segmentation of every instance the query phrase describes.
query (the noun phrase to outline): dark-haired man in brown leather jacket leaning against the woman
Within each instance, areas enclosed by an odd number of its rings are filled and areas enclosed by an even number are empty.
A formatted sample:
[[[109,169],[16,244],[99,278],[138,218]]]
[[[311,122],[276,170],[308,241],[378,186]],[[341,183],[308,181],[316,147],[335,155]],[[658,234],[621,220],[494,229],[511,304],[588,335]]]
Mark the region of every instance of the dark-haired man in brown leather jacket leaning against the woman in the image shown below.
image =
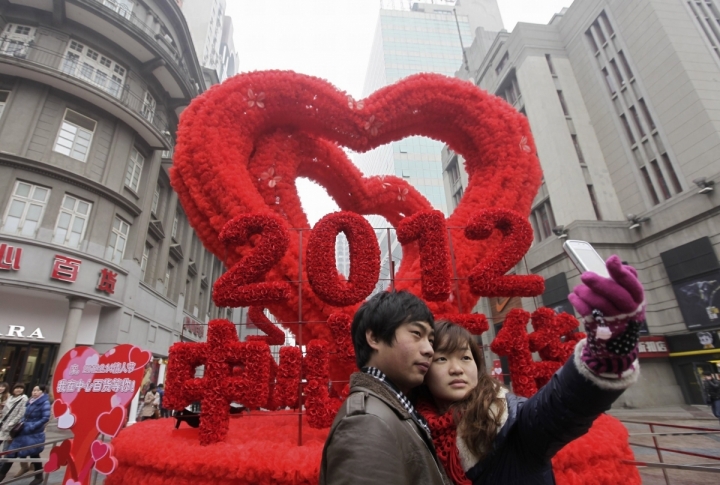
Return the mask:
[[[355,314],[360,372],[325,442],[320,484],[442,485],[451,482],[425,420],[407,399],[433,356],[432,313],[407,292],[383,292]]]

